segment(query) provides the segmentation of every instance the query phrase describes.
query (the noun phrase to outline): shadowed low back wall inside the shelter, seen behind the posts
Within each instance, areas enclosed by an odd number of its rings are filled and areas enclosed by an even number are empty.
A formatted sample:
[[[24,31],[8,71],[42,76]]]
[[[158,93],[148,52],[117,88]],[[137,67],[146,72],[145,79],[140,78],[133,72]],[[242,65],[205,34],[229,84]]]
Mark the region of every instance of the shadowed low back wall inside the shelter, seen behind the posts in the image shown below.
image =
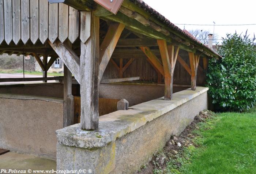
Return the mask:
[[[173,92],[188,87],[173,87]],[[43,97],[63,98],[63,84],[37,83],[37,84],[8,84],[0,85],[0,93],[37,95]],[[79,85],[73,84],[72,94],[80,96]],[[129,106],[147,102],[164,95],[164,86],[138,85],[138,84],[100,84],[99,97],[112,99],[126,99]]]

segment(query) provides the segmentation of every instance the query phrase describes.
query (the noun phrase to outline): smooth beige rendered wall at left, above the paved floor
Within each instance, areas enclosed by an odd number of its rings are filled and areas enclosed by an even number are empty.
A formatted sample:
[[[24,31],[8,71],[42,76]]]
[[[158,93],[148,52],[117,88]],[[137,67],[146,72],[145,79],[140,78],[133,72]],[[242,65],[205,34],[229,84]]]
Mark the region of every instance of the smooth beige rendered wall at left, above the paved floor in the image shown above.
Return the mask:
[[[63,101],[0,94],[0,148],[56,159]]]

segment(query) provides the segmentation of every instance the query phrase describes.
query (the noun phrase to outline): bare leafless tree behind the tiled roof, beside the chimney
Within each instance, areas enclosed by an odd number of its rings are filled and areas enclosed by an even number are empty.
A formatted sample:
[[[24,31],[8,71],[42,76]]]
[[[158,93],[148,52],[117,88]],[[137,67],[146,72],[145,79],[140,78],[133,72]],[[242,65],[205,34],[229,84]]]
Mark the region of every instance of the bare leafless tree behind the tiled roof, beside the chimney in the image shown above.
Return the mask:
[[[204,45],[208,45],[208,34],[212,34],[210,33],[210,31],[208,30],[189,30],[189,33],[191,33],[196,39],[198,39],[200,42],[202,42]],[[214,34],[213,36],[213,43],[218,44],[217,41],[218,35]]]

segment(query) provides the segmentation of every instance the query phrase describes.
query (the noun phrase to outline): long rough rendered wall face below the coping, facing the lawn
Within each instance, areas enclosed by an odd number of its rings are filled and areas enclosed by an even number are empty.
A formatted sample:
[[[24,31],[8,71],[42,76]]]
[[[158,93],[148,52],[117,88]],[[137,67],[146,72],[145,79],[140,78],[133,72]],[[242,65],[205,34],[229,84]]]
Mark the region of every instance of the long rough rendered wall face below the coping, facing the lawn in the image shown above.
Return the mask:
[[[170,139],[179,135],[200,111],[207,109],[207,92],[147,122],[116,140],[115,168],[111,173],[134,173]]]

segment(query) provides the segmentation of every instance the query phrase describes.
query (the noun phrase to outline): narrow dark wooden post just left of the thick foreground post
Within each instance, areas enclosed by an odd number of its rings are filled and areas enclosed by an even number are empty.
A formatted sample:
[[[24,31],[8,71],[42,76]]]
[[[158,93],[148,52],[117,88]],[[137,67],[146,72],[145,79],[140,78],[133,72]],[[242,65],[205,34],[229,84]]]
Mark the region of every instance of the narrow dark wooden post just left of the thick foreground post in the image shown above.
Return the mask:
[[[64,64],[63,127],[74,124],[74,96],[72,95],[72,73]]]

